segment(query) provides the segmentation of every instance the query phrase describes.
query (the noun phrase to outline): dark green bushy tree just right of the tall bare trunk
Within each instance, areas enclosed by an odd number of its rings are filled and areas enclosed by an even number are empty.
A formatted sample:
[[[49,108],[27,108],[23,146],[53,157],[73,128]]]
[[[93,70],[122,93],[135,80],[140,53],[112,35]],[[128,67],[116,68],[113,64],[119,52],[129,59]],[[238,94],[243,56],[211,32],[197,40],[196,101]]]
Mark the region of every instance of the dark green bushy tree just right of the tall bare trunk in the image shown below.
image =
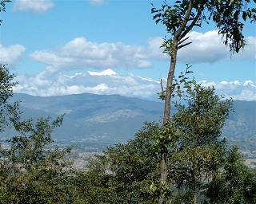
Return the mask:
[[[169,150],[169,174],[179,192],[193,195],[190,200],[195,204],[204,184],[222,167],[226,142],[220,136],[232,100],[222,101],[214,88],[200,84],[186,93],[187,103],[176,104],[178,112],[171,119],[181,134]]]

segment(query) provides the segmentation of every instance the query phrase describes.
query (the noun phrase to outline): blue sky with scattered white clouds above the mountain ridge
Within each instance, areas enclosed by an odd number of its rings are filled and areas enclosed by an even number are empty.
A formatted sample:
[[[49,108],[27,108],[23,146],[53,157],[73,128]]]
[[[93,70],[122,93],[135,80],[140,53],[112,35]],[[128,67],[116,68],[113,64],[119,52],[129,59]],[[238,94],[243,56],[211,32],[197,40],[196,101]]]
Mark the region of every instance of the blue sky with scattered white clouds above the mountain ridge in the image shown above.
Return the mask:
[[[151,2],[156,7],[162,4],[147,0],[6,3],[6,13],[1,13],[0,61],[18,75],[15,91],[154,98],[170,59],[159,49],[168,33],[164,26],[155,25]],[[189,33],[193,43],[179,50],[176,74],[190,63],[191,77],[214,85],[218,93],[256,100],[255,32],[255,24],[246,23],[247,46],[233,55],[214,25],[195,29]]]

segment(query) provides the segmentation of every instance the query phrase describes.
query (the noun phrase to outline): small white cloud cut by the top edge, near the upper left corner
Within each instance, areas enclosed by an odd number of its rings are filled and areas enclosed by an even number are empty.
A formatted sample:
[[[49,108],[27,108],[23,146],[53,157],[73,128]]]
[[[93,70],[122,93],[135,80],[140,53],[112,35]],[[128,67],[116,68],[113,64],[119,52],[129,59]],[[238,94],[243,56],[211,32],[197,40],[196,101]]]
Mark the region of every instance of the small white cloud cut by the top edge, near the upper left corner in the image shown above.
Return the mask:
[[[43,13],[50,10],[54,3],[50,0],[16,0],[14,10],[33,10],[36,13]]]

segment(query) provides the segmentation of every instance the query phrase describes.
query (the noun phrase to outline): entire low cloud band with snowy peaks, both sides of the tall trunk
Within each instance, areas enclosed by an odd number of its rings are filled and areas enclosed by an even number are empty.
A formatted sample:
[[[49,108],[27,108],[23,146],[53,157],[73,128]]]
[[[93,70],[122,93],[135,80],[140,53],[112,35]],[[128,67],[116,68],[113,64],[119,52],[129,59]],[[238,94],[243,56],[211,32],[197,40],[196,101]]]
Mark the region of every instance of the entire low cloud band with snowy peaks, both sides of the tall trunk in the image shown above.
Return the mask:
[[[34,76],[18,76],[19,84],[14,92],[30,95],[57,96],[90,92],[94,94],[118,94],[121,96],[139,97],[146,100],[157,100],[160,92],[159,81],[150,80],[133,74],[121,75],[110,72],[86,72],[74,76],[61,73],[48,75],[46,72]],[[218,95],[234,100],[256,100],[256,84],[253,81],[201,81],[205,86],[214,86]],[[158,100],[159,101],[159,100]]]

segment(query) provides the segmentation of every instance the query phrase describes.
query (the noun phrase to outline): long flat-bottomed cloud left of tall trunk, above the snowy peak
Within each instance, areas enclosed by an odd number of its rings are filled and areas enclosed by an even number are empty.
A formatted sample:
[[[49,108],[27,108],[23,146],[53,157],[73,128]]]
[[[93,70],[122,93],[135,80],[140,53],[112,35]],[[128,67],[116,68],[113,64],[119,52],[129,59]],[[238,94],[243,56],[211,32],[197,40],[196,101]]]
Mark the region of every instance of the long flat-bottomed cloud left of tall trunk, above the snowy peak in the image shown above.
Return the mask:
[[[150,67],[143,53],[144,48],[138,45],[124,45],[121,42],[98,44],[77,37],[58,49],[35,51],[30,57],[49,65],[48,71],[54,73],[63,69]]]

